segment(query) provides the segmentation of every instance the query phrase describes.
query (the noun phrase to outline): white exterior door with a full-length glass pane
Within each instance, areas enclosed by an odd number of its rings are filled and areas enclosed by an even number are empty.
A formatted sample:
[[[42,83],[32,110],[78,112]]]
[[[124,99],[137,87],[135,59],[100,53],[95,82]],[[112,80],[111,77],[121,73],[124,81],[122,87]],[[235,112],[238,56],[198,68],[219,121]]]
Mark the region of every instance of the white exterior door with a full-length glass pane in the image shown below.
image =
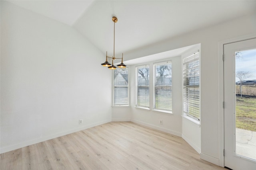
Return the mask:
[[[240,80],[242,80],[241,86]],[[225,44],[224,166],[232,170],[256,170],[254,82],[256,82],[256,38]]]

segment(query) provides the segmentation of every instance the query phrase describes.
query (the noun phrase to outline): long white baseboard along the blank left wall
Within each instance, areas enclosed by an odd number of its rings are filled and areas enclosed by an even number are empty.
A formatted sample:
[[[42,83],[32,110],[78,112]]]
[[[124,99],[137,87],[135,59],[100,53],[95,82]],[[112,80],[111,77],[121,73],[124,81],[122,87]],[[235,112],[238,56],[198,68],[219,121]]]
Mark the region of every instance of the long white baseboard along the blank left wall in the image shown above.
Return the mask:
[[[57,134],[54,134],[54,135],[45,136],[45,137],[42,137],[42,138],[39,138],[39,139],[34,139],[34,140],[31,140],[31,141],[25,141],[23,143],[18,143],[18,144],[12,145],[12,146],[0,148],[0,153],[2,154],[2,153],[5,153],[5,152],[9,152],[9,151],[15,150],[15,149],[20,149],[22,147],[27,147],[29,145],[34,145],[36,143],[40,143],[40,142],[43,142],[43,141],[54,139],[56,137],[61,137],[61,136],[64,136],[64,135],[68,135],[70,133],[82,131],[84,129],[88,129],[90,127],[102,125],[102,124],[108,123],[108,122],[111,122],[111,119],[100,121],[100,122],[97,122],[97,123],[92,123],[90,125],[85,125],[85,126],[82,126],[82,127],[76,128],[76,129],[71,129],[69,131],[64,131],[64,132],[57,133]]]

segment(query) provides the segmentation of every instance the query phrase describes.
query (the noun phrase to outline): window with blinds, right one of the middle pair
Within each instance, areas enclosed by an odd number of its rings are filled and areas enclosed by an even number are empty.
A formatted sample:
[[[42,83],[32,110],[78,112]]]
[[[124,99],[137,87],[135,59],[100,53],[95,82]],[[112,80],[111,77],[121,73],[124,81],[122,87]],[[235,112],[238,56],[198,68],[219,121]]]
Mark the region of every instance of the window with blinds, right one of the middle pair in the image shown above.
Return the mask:
[[[154,63],[154,109],[172,111],[172,62]]]

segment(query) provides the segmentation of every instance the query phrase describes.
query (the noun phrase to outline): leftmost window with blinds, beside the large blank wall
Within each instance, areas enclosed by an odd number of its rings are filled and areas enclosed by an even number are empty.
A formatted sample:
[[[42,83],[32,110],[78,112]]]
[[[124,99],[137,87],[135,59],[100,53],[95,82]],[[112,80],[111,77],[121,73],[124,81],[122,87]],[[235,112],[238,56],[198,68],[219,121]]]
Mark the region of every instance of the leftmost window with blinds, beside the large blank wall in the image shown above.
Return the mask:
[[[113,71],[114,80],[114,101],[113,106],[128,106],[128,68],[116,68]]]

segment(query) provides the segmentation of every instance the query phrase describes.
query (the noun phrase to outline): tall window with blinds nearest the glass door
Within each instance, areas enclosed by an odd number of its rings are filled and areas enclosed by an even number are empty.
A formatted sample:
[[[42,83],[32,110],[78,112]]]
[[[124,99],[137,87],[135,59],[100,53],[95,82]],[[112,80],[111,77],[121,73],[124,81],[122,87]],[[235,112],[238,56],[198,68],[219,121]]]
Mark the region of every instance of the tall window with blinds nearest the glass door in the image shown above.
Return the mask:
[[[199,52],[183,59],[183,111],[200,120]]]

